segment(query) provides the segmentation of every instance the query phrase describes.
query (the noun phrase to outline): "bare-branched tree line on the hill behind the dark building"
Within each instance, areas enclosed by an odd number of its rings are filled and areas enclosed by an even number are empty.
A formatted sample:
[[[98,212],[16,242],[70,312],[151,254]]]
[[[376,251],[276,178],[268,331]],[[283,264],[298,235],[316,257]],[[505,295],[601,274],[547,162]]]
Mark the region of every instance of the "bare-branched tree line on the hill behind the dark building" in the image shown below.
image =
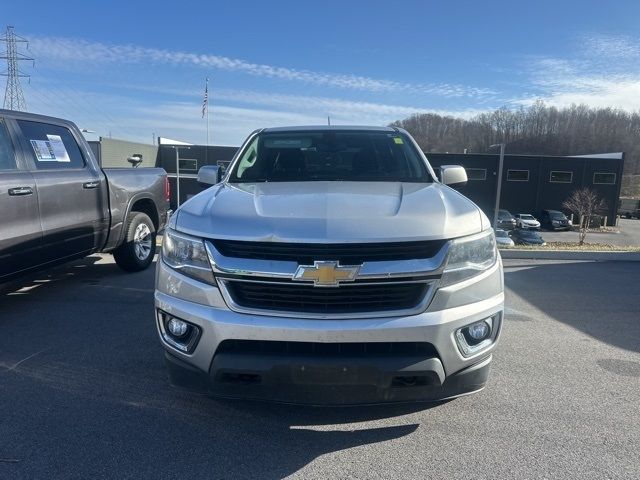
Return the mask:
[[[537,101],[470,119],[416,114],[392,125],[406,129],[426,152],[492,153],[489,146],[496,143],[505,143],[506,152],[516,154],[625,152],[625,176],[640,175],[640,112],[587,105],[557,108]],[[626,180],[633,189],[630,178]]]

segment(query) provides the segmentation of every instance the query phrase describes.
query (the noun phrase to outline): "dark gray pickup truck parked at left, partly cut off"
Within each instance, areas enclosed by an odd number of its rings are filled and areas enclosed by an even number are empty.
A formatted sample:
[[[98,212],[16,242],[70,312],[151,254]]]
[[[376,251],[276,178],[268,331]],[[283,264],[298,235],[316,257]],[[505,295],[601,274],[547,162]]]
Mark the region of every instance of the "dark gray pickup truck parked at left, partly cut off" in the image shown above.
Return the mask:
[[[0,110],[0,283],[95,252],[143,270],[168,206],[163,169],[103,170],[72,122]]]

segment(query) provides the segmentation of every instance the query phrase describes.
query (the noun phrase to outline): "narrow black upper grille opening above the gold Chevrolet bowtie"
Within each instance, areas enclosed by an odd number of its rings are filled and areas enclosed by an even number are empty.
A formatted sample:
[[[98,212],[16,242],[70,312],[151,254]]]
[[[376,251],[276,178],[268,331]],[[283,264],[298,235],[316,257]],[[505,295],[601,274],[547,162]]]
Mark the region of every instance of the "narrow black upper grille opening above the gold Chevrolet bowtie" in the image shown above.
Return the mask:
[[[298,262],[339,261],[342,265],[389,260],[415,260],[436,255],[445,240],[392,243],[282,243],[212,240],[225,257]]]

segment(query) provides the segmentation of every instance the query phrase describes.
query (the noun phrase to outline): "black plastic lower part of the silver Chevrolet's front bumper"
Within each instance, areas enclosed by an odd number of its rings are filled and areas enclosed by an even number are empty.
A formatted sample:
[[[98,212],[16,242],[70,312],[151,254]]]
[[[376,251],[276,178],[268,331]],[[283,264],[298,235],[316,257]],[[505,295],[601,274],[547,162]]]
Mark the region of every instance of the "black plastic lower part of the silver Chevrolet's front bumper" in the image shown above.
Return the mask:
[[[307,405],[439,401],[484,388],[491,355],[443,380],[438,359],[216,355],[202,372],[165,352],[172,385],[225,398]]]

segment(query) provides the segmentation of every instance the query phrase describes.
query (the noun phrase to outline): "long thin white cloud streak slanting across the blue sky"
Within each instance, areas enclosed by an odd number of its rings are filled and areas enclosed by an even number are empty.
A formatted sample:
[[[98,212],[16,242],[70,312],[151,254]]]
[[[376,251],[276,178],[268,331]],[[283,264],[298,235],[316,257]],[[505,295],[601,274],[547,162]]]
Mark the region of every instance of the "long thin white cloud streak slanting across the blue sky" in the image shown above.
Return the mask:
[[[446,98],[485,98],[496,94],[491,89],[452,83],[411,83],[353,74],[316,72],[252,63],[220,55],[173,51],[139,45],[106,44],[62,37],[31,36],[31,49],[35,55],[47,58],[49,61],[80,62],[84,65],[103,63],[191,65],[240,72],[256,77],[375,93],[405,92]]]

